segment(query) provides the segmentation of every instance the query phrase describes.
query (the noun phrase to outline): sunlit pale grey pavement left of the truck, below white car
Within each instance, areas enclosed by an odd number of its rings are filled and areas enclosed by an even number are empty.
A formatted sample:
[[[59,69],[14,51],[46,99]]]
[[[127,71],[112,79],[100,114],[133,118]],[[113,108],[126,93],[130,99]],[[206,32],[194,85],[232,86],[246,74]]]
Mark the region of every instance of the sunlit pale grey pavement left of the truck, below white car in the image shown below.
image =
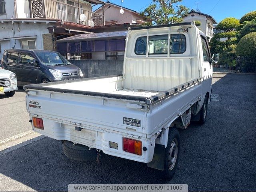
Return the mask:
[[[0,140],[31,130],[26,111],[25,92],[20,88],[14,96],[0,94]]]

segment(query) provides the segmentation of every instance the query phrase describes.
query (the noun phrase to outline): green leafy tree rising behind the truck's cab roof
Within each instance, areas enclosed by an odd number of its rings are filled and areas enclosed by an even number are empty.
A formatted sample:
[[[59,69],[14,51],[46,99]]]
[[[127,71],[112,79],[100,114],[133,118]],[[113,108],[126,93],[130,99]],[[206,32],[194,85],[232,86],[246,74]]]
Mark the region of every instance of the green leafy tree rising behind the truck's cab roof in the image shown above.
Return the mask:
[[[188,14],[188,8],[177,3],[182,0],[153,0],[141,15],[145,20],[152,20],[155,24],[170,24],[182,22],[182,17]],[[145,25],[152,25],[146,23]]]

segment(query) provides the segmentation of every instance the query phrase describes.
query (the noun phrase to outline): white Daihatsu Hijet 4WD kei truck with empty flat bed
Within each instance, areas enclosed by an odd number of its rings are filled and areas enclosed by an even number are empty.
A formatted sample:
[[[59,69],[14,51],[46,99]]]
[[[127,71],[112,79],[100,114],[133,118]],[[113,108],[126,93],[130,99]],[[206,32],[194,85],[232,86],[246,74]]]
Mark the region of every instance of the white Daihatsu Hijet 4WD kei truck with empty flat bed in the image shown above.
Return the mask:
[[[177,128],[206,121],[216,62],[194,22],[129,28],[122,75],[24,86],[32,129],[62,140],[71,159],[101,150],[170,179]]]

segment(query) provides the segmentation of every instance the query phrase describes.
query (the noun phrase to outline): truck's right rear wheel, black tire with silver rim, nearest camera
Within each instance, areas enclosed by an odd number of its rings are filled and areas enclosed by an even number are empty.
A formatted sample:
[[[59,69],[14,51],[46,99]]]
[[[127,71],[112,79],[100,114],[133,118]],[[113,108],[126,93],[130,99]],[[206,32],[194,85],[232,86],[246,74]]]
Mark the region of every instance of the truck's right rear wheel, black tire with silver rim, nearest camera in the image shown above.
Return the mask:
[[[174,144],[176,146],[175,148],[174,148]],[[170,154],[170,150],[172,151],[172,154]],[[170,180],[174,176],[176,172],[179,156],[180,156],[180,134],[176,128],[169,128],[168,144],[164,152],[164,171],[163,171],[164,179]],[[173,163],[170,163],[171,162],[170,158],[176,158],[176,159],[174,159]]]

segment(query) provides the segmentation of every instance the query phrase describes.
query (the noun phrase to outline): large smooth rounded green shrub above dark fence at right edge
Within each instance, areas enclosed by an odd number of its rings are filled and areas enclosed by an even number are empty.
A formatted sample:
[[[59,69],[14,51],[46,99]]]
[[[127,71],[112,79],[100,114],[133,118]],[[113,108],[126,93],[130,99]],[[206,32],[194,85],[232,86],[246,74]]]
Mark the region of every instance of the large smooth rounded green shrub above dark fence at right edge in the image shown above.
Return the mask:
[[[256,56],[256,32],[242,37],[236,46],[236,56]]]

